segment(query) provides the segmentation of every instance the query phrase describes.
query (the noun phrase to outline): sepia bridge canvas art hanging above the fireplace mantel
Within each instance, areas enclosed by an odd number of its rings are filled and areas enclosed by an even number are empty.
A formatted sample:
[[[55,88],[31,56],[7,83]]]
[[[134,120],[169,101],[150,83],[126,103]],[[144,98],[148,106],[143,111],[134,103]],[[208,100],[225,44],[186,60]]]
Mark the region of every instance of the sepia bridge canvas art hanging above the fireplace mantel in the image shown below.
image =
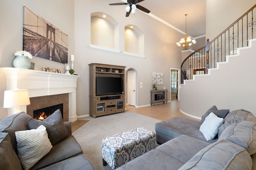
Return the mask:
[[[33,56],[68,63],[68,35],[24,7],[23,50]]]

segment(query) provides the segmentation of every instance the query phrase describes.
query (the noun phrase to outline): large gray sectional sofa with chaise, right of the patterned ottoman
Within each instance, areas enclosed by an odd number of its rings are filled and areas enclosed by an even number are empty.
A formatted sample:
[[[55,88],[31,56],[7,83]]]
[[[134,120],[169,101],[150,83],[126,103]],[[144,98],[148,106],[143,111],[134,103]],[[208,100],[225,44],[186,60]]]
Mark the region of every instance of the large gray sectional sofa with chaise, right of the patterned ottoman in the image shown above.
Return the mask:
[[[216,137],[207,141],[200,127],[211,112],[222,117],[222,123]],[[118,170],[256,169],[256,117],[249,111],[213,106],[201,122],[174,117],[156,123],[155,130],[161,145]]]

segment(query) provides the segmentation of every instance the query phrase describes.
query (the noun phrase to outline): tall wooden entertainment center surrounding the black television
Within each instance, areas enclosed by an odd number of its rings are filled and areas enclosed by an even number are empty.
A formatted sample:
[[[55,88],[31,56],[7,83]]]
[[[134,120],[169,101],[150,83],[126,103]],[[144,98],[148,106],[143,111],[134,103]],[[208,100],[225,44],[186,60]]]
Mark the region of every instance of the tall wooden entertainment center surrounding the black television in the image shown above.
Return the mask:
[[[90,115],[96,118],[125,111],[125,94],[96,94],[96,77],[119,77],[122,78],[122,90],[124,90],[125,66],[109,64],[88,64],[90,67]]]

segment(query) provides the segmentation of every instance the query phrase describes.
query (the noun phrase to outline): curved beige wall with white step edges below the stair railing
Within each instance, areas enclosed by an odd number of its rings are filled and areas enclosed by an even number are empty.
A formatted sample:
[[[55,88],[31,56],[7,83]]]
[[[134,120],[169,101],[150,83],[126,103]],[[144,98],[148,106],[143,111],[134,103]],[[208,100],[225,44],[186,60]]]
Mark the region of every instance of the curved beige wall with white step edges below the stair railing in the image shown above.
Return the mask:
[[[245,109],[256,115],[256,39],[226,56],[208,74],[193,75],[180,85],[180,111],[194,118],[213,105],[218,109]]]

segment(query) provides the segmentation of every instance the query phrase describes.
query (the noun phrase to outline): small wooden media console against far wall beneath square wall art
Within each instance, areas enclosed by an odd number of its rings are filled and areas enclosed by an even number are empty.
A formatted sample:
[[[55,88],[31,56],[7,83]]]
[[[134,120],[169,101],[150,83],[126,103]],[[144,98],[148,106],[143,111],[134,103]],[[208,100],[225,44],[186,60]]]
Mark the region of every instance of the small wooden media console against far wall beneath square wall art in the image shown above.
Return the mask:
[[[150,90],[150,105],[160,102],[167,103],[167,92],[168,90]]]

